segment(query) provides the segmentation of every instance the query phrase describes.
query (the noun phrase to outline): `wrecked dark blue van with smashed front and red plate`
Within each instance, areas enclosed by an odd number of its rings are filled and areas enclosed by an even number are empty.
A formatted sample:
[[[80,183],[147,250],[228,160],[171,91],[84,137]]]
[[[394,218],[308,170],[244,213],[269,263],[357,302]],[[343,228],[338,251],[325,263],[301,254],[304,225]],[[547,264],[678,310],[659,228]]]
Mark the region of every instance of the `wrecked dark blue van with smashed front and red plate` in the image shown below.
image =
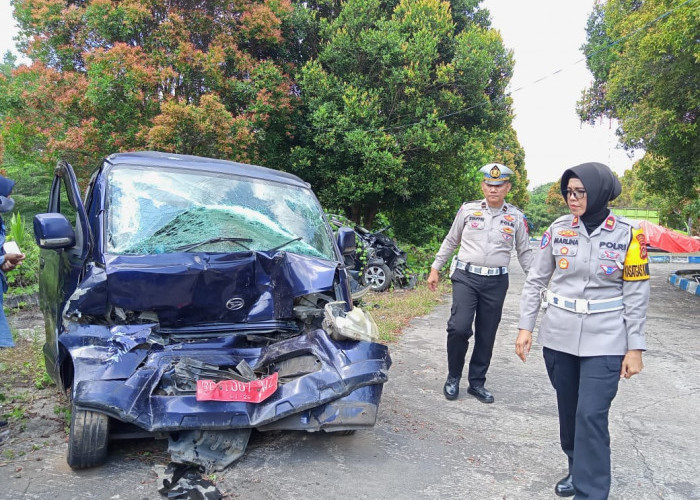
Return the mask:
[[[61,161],[34,218],[46,368],[70,397],[68,464],[110,440],[168,439],[221,470],[252,429],[374,425],[391,359],[353,307],[343,255],[309,185],[230,161],[105,158],[84,198]]]

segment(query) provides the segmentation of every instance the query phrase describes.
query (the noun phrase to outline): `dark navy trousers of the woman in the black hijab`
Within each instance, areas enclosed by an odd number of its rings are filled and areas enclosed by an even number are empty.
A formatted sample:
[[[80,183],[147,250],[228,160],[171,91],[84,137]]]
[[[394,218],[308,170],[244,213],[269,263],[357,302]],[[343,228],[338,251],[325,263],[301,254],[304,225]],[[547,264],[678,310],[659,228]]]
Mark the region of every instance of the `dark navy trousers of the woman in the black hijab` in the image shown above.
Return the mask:
[[[624,356],[579,357],[543,348],[559,407],[559,437],[574,476],[576,500],[605,500],[610,492],[608,413]]]

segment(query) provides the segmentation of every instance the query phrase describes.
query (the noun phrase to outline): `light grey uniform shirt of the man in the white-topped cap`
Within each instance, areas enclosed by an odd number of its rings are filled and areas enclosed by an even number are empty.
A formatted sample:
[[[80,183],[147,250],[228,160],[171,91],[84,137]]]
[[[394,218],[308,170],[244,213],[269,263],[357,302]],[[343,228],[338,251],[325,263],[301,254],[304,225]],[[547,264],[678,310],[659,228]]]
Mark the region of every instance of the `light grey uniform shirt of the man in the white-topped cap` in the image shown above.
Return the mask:
[[[513,247],[525,273],[533,259],[525,216],[509,203],[495,213],[486,200],[463,203],[431,267],[442,269],[458,246],[460,262],[475,266],[507,267]]]

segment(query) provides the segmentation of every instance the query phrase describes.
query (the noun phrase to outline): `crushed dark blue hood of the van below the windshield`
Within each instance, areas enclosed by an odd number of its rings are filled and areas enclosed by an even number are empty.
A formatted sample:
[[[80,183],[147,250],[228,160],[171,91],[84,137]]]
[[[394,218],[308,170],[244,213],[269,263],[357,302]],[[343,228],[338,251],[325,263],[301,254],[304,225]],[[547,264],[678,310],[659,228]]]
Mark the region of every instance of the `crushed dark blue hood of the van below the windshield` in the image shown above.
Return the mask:
[[[88,267],[64,315],[116,310],[161,328],[284,321],[295,297],[333,289],[337,266],[288,252],[113,255]]]

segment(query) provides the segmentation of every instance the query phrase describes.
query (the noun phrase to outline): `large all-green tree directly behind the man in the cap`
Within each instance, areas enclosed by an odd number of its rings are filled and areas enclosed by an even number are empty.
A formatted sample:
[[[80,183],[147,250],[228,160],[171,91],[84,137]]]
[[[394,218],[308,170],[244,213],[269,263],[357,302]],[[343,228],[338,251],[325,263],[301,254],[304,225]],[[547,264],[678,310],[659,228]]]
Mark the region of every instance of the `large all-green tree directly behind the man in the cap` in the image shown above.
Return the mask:
[[[481,197],[482,165],[522,171],[505,96],[512,56],[477,5],[455,14],[439,0],[350,0],[321,19],[318,58],[298,78],[291,163],[324,206],[365,227],[382,212],[420,245]],[[515,198],[527,195],[518,180]]]

